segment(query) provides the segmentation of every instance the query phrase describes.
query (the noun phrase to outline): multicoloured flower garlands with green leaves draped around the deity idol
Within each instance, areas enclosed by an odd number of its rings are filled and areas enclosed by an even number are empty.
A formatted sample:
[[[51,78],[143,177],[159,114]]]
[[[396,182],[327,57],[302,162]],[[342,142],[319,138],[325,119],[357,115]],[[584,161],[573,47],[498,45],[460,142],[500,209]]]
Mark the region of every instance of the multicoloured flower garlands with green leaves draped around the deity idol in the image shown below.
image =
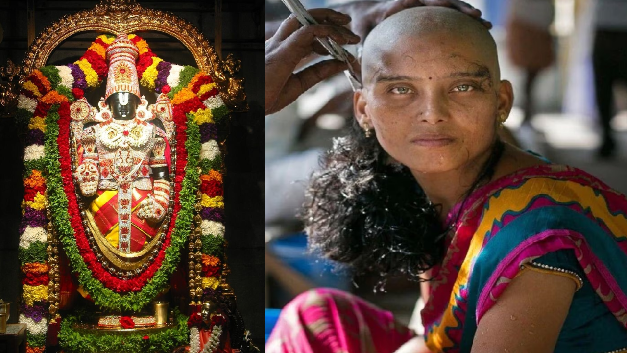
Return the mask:
[[[150,50],[147,43],[139,36],[130,35],[140,48],[140,58],[137,62],[140,83],[156,92],[169,94],[172,99],[174,120],[177,123],[177,177],[176,177],[176,204],[172,217],[172,224],[167,233],[166,241],[159,256],[150,268],[135,278],[135,281],[122,281],[117,278],[107,278],[107,271],[98,271],[98,261],[95,261],[93,252],[83,244],[85,238],[80,219],[76,212],[68,212],[69,204],[76,204],[71,187],[71,176],[68,178],[64,171],[63,163],[59,163],[60,157],[68,151],[68,126],[69,104],[74,99],[83,97],[86,89],[93,89],[101,84],[107,73],[107,63],[104,53],[107,46],[113,41],[113,36],[102,35],[92,43],[85,55],[75,63],[65,66],[48,66],[40,70],[34,70],[24,83],[18,97],[18,122],[23,126],[28,125],[29,133],[26,137],[27,146],[24,153],[24,202],[23,220],[20,226],[20,259],[24,272],[24,312],[34,305],[43,307],[47,299],[47,287],[35,285],[43,283],[45,277],[36,265],[45,266],[45,227],[48,222],[45,216],[42,200],[46,190],[46,182],[42,171],[48,168],[48,183],[55,197],[51,198],[50,209],[53,211],[56,227],[60,233],[63,248],[70,259],[71,267],[78,272],[79,282],[83,285],[95,303],[107,308],[127,308],[138,310],[150,301],[152,297],[167,283],[167,276],[172,273],[179,262],[179,250],[186,241],[187,225],[191,224],[194,193],[198,187],[198,174],[194,171],[196,166],[201,167],[201,190],[204,202],[201,210],[203,220],[218,223],[223,221],[222,160],[219,153],[218,129],[219,123],[228,109],[218,95],[215,84],[209,75],[199,72],[197,68],[182,67],[164,62],[157,58]],[[177,93],[182,92],[181,95]],[[192,135],[192,141],[187,139],[187,134]],[[55,139],[56,137],[56,139]],[[199,144],[208,146],[203,149],[203,156],[199,156]],[[48,155],[46,154],[48,151]],[[191,152],[191,155],[188,153]],[[194,158],[194,155],[196,158]],[[201,160],[199,160],[201,158]],[[67,158],[61,158],[66,161]],[[185,163],[187,161],[187,163]],[[195,163],[194,163],[195,162]],[[181,173],[186,170],[184,176]],[[213,177],[212,177],[213,176]],[[68,182],[68,180],[70,182]],[[187,180],[187,182],[184,182]],[[218,181],[219,180],[219,181]],[[63,181],[63,182],[62,182]],[[184,184],[184,186],[182,186]],[[65,193],[62,192],[65,188]],[[70,196],[68,200],[67,195]],[[61,198],[56,198],[57,196]],[[209,198],[207,198],[209,197]],[[65,207],[63,207],[65,205]],[[70,207],[71,209],[71,207]],[[181,211],[181,209],[183,209]],[[181,212],[181,214],[178,214]],[[65,215],[64,215],[65,214]],[[176,217],[176,215],[178,217]],[[175,227],[174,219],[176,220]],[[179,224],[179,220],[180,223]],[[223,225],[205,225],[202,239],[208,240],[203,244],[204,254],[222,255]],[[180,225],[180,226],[179,226]],[[179,230],[172,234],[173,229]],[[74,234],[76,230],[76,234]],[[215,234],[213,234],[215,233]],[[210,240],[209,240],[210,238]],[[83,245],[83,246],[82,246]],[[88,251],[85,251],[87,246]],[[168,247],[169,246],[169,247]],[[78,248],[77,248],[78,247]],[[164,251],[164,249],[171,250]],[[92,255],[92,256],[89,256]],[[170,256],[169,256],[170,255]],[[92,257],[94,259],[92,259]],[[90,261],[94,260],[94,261]],[[30,261],[30,262],[29,262]],[[87,268],[85,263],[97,264],[94,268]],[[206,266],[203,266],[203,268]],[[209,266],[211,270],[203,271],[206,276],[211,276],[211,287],[219,283],[219,271],[217,266]],[[30,271],[33,271],[32,273]],[[46,274],[47,276],[47,274]],[[112,276],[110,276],[112,277]],[[147,280],[152,277],[150,283]],[[203,280],[203,283],[206,283]],[[103,286],[104,285],[104,286]],[[110,285],[119,293],[129,292],[127,295],[119,295],[105,286]],[[30,310],[30,311],[33,311]],[[41,312],[41,310],[39,310]],[[40,322],[45,319],[43,315],[33,315],[28,320]],[[26,319],[25,319],[26,320]],[[31,332],[31,334],[33,334]],[[33,334],[32,342],[28,340],[29,351],[43,350],[41,339],[43,334]],[[34,337],[33,336],[33,337]]]

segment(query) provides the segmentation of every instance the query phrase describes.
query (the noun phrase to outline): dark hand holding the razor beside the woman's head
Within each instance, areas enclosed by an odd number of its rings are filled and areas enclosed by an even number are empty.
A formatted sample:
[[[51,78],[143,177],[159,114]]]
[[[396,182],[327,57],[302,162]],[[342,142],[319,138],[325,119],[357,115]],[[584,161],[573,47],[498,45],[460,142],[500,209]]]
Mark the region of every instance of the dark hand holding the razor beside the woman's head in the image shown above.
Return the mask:
[[[325,60],[295,73],[298,63],[308,55],[329,55],[315,38],[329,37],[339,45],[359,43],[359,37],[344,28],[349,16],[332,9],[312,9],[308,13],[319,24],[302,26],[290,16],[265,43],[265,115],[280,111],[313,85],[347,68],[339,60]]]

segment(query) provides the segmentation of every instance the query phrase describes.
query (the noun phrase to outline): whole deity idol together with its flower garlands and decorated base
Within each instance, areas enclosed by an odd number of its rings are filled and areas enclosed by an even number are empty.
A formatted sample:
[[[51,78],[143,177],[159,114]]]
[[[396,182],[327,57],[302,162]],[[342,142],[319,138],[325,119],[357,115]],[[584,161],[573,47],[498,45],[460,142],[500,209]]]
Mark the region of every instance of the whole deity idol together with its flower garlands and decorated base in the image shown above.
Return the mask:
[[[105,79],[93,107],[83,94]],[[80,60],[26,77],[28,352],[258,351],[226,283],[228,114],[211,75],[165,62],[135,34],[100,35]]]

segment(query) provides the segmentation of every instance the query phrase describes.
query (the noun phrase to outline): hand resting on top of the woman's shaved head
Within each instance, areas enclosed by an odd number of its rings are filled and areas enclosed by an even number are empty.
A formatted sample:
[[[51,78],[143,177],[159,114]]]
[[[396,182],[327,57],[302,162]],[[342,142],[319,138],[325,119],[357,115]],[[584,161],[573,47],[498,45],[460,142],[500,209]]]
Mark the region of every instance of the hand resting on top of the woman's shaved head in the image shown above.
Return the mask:
[[[404,9],[417,8],[419,6],[443,6],[456,9],[468,16],[477,18],[488,30],[492,28],[492,23],[481,18],[480,10],[459,0],[355,1],[337,6],[335,9],[352,17],[352,22],[349,24],[350,30],[364,40],[374,26],[384,19]]]

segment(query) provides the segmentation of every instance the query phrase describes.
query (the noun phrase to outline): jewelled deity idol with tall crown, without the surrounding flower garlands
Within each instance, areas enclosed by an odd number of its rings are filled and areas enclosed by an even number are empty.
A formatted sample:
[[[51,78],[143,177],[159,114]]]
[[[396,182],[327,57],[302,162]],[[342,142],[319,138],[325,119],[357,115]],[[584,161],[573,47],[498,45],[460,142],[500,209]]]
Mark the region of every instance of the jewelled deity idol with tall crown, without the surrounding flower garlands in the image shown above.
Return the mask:
[[[74,177],[85,200],[83,224],[95,240],[98,259],[111,273],[130,278],[154,259],[150,250],[161,247],[158,235],[174,192],[174,123],[166,95],[150,107],[140,95],[137,46],[121,34],[106,55],[109,71],[100,111],[85,99],[71,106]]]

